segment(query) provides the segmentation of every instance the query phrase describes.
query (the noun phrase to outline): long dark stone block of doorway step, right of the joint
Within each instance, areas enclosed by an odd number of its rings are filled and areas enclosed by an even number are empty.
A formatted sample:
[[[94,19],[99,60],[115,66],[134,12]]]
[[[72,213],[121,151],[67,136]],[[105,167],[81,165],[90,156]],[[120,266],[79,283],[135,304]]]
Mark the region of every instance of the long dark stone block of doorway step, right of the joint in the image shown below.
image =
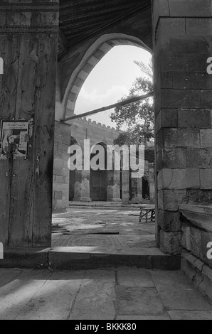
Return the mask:
[[[50,269],[98,269],[120,266],[145,269],[180,269],[180,257],[157,248],[115,249],[106,247],[54,247],[49,252]]]

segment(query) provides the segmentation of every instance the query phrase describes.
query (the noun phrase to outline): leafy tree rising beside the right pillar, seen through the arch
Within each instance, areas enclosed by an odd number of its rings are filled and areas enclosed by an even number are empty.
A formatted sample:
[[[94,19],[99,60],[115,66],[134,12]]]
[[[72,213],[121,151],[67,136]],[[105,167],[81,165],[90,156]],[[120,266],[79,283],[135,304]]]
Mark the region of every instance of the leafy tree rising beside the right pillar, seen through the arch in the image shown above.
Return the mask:
[[[153,91],[152,84],[152,63],[144,65],[142,62],[136,62],[140,70],[146,76],[141,75],[134,81],[128,95],[122,97],[120,101],[147,94]],[[120,135],[115,140],[115,144],[144,144],[154,138],[154,109],[152,98],[143,101],[134,102],[132,104],[117,107],[115,112],[110,115],[113,122],[117,124]]]

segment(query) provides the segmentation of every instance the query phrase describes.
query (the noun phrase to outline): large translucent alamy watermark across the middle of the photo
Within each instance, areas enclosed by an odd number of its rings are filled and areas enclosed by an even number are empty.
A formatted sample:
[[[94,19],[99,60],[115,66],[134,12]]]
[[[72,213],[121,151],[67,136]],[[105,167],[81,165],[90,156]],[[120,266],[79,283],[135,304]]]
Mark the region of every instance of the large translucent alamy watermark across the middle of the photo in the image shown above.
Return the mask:
[[[144,176],[144,145],[102,145],[92,146],[90,149],[90,139],[84,140],[84,148],[79,145],[71,145],[68,148],[68,168],[70,171],[132,171],[132,178],[142,178]],[[84,152],[84,154],[83,154]]]

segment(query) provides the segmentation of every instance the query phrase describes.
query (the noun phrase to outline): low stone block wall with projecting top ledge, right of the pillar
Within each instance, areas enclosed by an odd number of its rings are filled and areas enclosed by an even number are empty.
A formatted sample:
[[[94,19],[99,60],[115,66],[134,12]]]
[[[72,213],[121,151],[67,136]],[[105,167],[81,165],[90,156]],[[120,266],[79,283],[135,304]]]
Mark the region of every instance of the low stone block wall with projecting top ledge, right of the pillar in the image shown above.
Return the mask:
[[[181,206],[181,269],[196,288],[212,303],[212,259],[208,243],[212,242],[212,209],[197,205]]]

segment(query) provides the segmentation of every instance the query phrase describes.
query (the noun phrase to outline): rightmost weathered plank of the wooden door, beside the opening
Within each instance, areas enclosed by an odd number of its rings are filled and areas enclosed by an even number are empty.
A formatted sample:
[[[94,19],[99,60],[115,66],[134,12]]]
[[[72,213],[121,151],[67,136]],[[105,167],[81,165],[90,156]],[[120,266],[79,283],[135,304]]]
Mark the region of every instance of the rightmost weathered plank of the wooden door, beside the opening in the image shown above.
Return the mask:
[[[33,247],[51,244],[53,138],[55,111],[55,68],[57,36],[44,37],[39,42],[38,64],[40,87],[36,97],[36,166]],[[38,161],[38,162],[37,162]],[[46,244],[48,242],[48,244]]]

